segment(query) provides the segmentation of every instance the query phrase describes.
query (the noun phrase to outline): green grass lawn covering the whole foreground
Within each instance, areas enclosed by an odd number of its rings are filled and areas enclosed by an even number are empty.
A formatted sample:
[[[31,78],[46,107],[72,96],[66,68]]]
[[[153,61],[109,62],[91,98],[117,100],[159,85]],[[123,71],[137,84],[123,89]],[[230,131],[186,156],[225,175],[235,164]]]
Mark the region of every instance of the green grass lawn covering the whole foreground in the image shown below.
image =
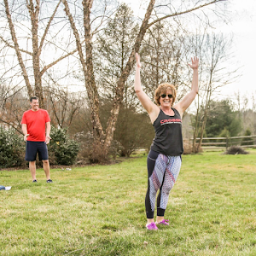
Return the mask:
[[[183,155],[166,218],[148,231],[146,156],[111,166],[0,171],[1,255],[256,255],[256,150]]]

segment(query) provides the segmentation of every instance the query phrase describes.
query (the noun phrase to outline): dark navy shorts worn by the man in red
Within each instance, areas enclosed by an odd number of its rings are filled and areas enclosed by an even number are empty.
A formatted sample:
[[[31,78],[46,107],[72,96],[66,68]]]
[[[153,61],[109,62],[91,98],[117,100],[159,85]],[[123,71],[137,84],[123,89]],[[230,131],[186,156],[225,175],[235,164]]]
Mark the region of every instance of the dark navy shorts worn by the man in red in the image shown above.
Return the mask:
[[[25,160],[29,162],[35,161],[37,159],[37,154],[39,160],[48,160],[48,148],[46,143],[26,141]]]

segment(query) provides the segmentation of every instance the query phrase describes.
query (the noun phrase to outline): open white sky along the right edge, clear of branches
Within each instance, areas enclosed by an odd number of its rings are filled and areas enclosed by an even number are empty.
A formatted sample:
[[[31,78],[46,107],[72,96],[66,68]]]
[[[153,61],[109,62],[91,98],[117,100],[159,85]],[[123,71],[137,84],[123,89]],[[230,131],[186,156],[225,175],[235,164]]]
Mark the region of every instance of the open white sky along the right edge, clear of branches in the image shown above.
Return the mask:
[[[232,0],[232,21],[227,27],[233,32],[233,51],[241,65],[241,77],[223,89],[226,96],[234,92],[256,96],[256,1]],[[251,102],[252,103],[252,102]]]

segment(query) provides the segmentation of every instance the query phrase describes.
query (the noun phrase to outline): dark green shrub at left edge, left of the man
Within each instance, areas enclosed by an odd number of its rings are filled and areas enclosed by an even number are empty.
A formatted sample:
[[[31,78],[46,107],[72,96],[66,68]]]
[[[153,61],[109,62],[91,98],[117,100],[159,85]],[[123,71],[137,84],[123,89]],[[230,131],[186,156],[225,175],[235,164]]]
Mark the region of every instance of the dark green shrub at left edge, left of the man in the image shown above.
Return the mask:
[[[15,167],[25,163],[25,146],[22,137],[16,134],[15,129],[0,128],[0,166]]]

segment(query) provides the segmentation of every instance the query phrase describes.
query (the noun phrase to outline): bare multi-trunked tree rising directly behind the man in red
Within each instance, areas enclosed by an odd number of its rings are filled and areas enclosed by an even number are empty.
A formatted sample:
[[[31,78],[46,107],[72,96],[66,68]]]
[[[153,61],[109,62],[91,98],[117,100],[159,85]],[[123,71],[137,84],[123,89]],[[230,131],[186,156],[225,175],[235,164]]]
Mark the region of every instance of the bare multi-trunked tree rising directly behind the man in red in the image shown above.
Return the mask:
[[[0,4],[0,81],[4,89],[0,119],[17,131],[22,111],[29,107],[27,96],[38,96],[40,108],[46,108],[53,124],[60,127],[70,125],[79,111],[81,101],[74,101],[60,87],[60,80],[73,77],[78,68],[72,31],[60,5],[61,0],[4,0]],[[58,111],[52,110],[56,105]]]

